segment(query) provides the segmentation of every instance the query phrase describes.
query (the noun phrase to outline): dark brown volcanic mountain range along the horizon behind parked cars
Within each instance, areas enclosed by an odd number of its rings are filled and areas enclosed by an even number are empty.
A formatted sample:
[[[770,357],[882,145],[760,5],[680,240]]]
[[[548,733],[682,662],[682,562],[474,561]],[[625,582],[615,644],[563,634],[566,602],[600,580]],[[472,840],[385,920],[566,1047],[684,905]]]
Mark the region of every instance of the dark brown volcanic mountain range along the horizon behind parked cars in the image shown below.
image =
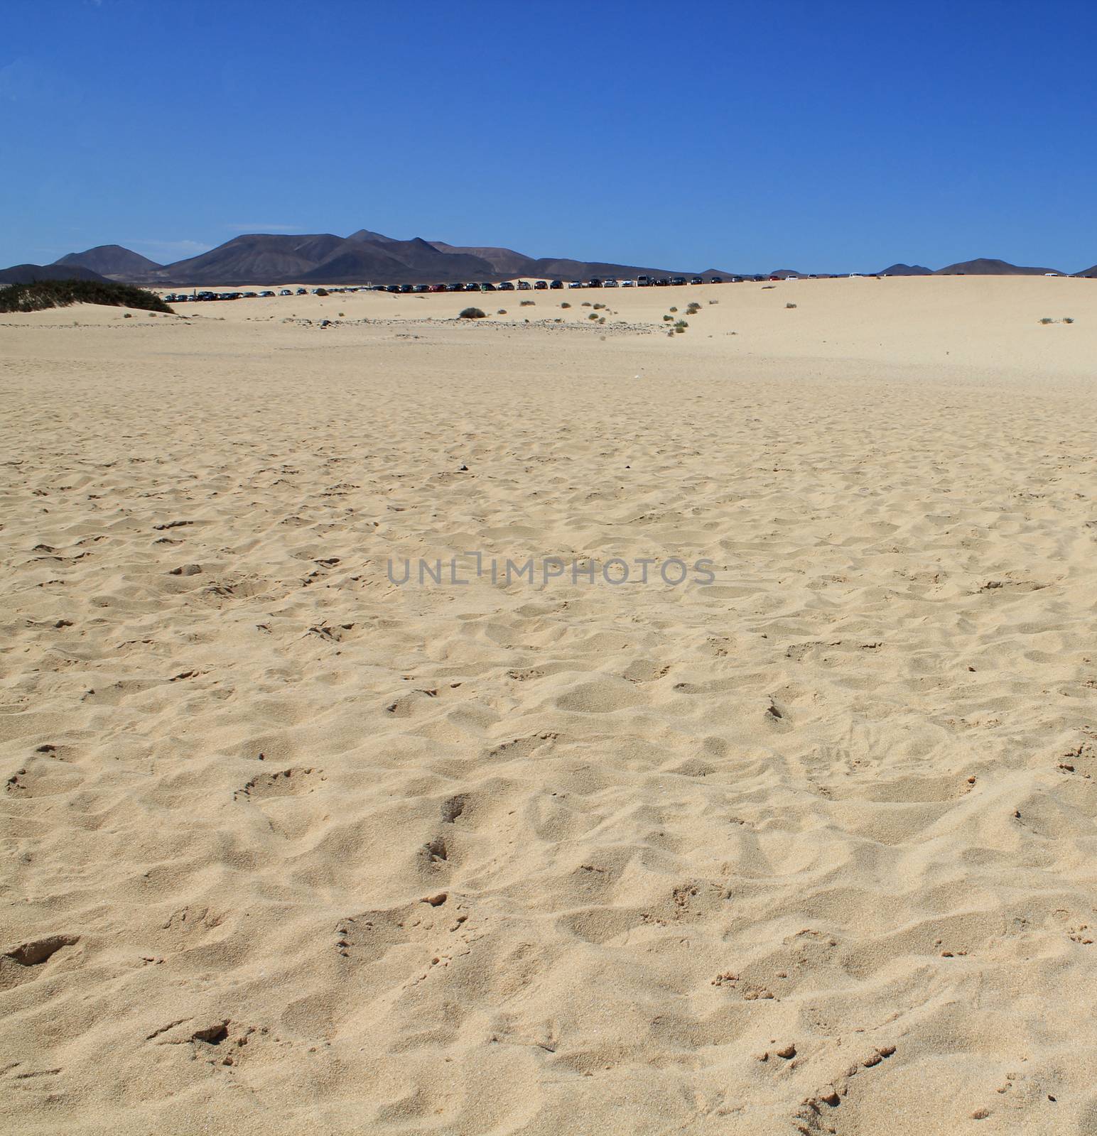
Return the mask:
[[[933,269],[895,264],[879,276],[1040,276],[1053,268],[1029,268],[1005,260],[966,260]],[[233,237],[197,257],[160,265],[120,244],[100,244],[70,252],[52,265],[16,265],[0,269],[0,283],[34,279],[109,279],[148,286],[243,284],[449,284],[457,281],[532,278],[589,279],[592,276],[757,276],[708,268],[691,273],[666,268],[618,265],[601,260],[527,257],[514,249],[491,245],[455,245],[444,241],[409,241],[360,228],[349,236],[333,233],[249,233]],[[792,269],[775,269],[767,276],[805,276]],[[824,275],[824,274],[817,274]],[[826,274],[829,275],[829,274]],[[1058,275],[1069,275],[1058,273]],[[1097,277],[1097,265],[1078,276]]]

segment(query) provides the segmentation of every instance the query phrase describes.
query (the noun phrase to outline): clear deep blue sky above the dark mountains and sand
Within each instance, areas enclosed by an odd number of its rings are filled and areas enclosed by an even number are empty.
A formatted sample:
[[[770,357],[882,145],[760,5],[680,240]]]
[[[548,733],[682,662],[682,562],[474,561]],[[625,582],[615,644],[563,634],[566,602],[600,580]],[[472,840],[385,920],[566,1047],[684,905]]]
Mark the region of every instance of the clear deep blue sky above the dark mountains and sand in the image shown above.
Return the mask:
[[[0,265],[241,232],[1097,262],[1097,0],[2,0]]]

